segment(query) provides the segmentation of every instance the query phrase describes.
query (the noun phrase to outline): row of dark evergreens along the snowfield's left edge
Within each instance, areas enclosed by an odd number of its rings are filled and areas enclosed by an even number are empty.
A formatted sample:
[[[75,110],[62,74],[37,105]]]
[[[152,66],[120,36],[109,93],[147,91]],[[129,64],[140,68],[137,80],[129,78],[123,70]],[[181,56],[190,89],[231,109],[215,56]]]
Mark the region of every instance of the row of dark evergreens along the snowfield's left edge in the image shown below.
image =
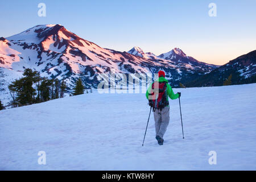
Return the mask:
[[[23,77],[11,82],[8,86],[11,97],[11,107],[31,105],[46,102],[56,98],[63,98],[67,92],[66,82],[57,78],[41,77],[37,71],[24,69]],[[76,81],[72,95],[84,94],[85,87],[81,78]],[[86,91],[88,93],[88,91]],[[0,101],[0,110],[4,109]]]

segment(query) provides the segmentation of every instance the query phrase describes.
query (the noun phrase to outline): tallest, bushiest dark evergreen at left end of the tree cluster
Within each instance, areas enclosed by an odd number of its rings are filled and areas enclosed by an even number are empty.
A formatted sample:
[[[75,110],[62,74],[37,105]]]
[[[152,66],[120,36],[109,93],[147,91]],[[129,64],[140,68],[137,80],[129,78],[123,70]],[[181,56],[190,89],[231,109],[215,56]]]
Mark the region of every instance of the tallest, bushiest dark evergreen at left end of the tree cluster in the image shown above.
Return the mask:
[[[39,72],[32,69],[24,69],[23,78],[13,81],[9,86],[10,92],[15,92],[17,97],[15,101],[19,106],[33,104],[35,101],[35,89],[32,85],[40,79]]]

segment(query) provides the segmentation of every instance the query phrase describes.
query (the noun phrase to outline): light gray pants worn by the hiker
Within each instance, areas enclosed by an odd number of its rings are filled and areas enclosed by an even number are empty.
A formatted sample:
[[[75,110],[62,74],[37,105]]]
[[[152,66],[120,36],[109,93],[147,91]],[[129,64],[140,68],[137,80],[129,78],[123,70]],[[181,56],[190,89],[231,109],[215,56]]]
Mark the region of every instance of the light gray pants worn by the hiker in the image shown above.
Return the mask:
[[[162,111],[156,109],[154,111],[155,118],[155,134],[163,138],[164,133],[166,133],[167,126],[170,121],[170,107],[166,106]]]

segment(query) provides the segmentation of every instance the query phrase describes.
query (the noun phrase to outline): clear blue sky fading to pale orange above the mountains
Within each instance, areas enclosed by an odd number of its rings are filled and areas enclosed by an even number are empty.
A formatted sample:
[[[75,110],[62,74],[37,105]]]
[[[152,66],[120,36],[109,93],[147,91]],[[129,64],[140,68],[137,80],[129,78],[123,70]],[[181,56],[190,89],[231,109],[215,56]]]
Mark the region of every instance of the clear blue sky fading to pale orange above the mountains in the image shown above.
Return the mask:
[[[38,16],[40,2],[46,4],[46,17]],[[216,17],[208,15],[212,2]],[[37,24],[61,24],[104,48],[138,46],[159,55],[179,47],[218,65],[256,49],[255,0],[9,0],[0,7],[3,37]]]

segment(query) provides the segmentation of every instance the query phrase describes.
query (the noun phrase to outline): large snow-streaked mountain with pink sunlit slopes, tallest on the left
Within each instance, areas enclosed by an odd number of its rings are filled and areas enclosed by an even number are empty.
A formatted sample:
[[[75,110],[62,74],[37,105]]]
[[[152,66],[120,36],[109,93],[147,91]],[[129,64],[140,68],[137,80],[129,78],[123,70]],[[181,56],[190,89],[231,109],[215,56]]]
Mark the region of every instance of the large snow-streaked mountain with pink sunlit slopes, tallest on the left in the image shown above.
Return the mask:
[[[180,81],[191,80],[217,67],[194,63],[196,61],[185,62],[185,59],[162,59],[138,47],[128,52],[102,48],[60,24],[38,25],[0,38],[0,100],[10,98],[7,85],[21,77],[25,68],[39,71],[44,77],[65,80],[70,89],[78,77],[86,88],[97,88],[98,75],[109,75],[110,69],[126,74],[156,73],[162,69],[171,85],[178,86]]]

